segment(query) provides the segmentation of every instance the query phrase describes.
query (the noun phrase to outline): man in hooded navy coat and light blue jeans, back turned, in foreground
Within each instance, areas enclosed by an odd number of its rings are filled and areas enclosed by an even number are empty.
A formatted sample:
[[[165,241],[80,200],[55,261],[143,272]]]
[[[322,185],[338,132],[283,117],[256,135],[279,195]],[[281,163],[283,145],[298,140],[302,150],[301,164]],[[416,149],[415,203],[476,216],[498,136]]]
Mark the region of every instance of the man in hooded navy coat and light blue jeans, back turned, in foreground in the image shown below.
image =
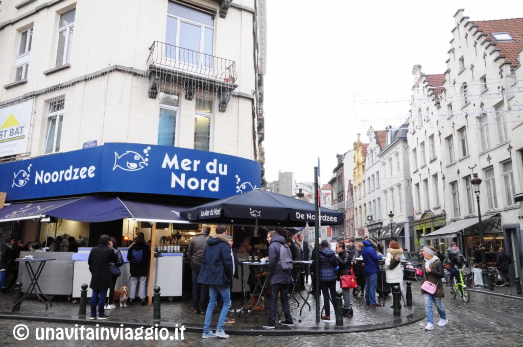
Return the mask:
[[[227,227],[220,225],[216,228],[216,234],[209,235],[207,246],[203,252],[203,262],[201,264],[198,283],[209,286],[209,304],[205,314],[202,338],[228,338],[229,335],[223,331],[223,323],[227,318],[229,307],[231,307],[231,294],[229,285],[233,277],[233,264],[231,258],[231,247],[227,238]],[[216,299],[220,293],[223,299],[223,306],[216,325],[216,331],[211,331],[212,311],[216,306]]]

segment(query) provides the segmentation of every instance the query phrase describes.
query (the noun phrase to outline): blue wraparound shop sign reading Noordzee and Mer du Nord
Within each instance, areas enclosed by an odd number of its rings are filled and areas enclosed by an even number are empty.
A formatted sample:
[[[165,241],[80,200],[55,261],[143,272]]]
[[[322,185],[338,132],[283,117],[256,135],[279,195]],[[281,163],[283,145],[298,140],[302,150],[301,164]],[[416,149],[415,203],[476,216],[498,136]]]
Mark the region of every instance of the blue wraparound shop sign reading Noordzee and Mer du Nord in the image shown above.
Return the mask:
[[[7,201],[97,192],[221,199],[260,188],[254,160],[196,149],[106,143],[0,165]]]

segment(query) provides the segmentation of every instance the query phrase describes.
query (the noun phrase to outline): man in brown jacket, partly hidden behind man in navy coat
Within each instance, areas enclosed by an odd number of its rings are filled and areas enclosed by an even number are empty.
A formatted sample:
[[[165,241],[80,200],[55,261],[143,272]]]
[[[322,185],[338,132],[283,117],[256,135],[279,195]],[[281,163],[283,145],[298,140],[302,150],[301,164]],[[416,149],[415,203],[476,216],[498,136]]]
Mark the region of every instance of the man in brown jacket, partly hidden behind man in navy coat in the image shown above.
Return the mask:
[[[211,228],[204,226],[201,229],[201,234],[191,239],[185,252],[185,259],[191,265],[192,270],[192,308],[195,314],[206,311],[209,298],[209,288],[205,284],[198,283],[198,276],[203,262],[203,251],[207,246],[207,238],[210,232]]]

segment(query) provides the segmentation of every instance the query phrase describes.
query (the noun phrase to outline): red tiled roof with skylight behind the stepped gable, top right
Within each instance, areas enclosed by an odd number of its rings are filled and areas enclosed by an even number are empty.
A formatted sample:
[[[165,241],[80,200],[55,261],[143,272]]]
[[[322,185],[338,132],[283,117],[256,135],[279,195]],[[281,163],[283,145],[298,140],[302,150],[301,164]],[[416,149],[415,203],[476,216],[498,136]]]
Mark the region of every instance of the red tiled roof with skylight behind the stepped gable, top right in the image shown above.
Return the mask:
[[[520,62],[516,58],[523,48],[523,18],[476,20],[469,22],[467,28],[470,28],[470,24],[477,25],[477,30],[487,34],[487,38],[496,44],[496,49],[501,49],[499,53],[506,56],[505,60],[510,62],[510,66],[519,66]],[[514,41],[497,41],[492,36],[493,32],[508,32]]]

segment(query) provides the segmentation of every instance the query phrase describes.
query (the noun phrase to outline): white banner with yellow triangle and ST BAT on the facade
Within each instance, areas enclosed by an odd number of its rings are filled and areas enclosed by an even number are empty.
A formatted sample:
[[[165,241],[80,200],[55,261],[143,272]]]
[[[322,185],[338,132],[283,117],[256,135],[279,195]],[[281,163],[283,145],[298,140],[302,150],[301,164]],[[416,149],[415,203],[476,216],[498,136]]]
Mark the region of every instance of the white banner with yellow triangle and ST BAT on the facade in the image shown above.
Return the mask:
[[[0,109],[0,157],[27,152],[33,100]]]

